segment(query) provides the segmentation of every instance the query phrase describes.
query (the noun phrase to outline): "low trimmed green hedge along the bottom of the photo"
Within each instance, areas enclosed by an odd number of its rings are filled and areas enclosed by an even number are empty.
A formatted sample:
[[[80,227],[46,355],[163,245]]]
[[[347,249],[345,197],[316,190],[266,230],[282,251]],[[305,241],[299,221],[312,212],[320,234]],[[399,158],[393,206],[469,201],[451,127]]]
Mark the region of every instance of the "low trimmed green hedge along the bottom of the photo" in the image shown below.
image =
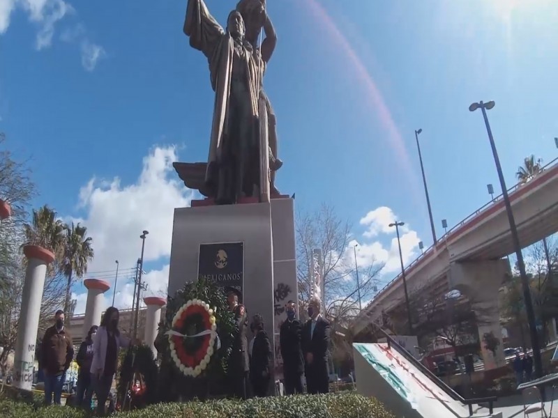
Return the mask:
[[[28,403],[0,401],[2,418],[86,418],[68,406],[34,408]],[[375,399],[357,394],[300,395],[255,398],[245,402],[220,400],[160,403],[123,412],[122,418],[393,418]]]

